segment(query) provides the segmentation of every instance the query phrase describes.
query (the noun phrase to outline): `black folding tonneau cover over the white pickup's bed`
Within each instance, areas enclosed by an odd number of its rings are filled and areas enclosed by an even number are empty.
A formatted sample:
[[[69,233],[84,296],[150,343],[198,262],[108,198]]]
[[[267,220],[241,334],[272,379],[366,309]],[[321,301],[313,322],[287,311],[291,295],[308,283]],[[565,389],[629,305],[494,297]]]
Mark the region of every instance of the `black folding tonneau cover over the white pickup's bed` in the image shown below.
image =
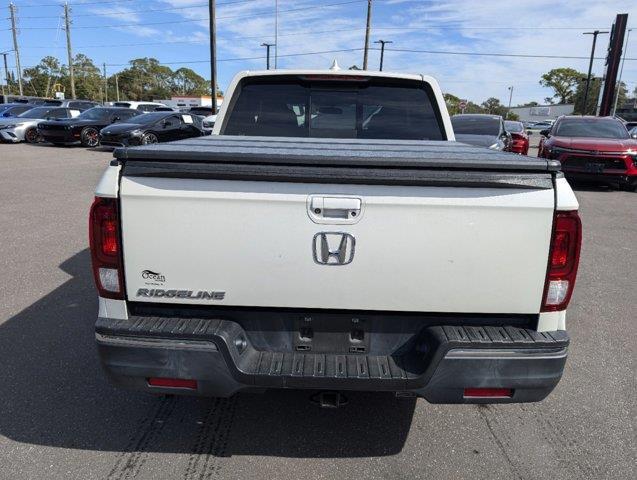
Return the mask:
[[[560,163],[446,141],[207,136],[118,148],[124,175],[552,188]]]

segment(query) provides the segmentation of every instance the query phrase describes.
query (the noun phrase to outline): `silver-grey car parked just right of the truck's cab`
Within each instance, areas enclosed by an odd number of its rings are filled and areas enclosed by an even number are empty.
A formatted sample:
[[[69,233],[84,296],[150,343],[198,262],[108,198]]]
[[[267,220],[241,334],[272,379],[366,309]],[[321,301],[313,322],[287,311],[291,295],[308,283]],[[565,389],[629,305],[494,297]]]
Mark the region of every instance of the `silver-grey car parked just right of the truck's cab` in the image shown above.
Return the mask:
[[[456,140],[491,150],[509,151],[511,134],[500,115],[462,114],[451,117]]]

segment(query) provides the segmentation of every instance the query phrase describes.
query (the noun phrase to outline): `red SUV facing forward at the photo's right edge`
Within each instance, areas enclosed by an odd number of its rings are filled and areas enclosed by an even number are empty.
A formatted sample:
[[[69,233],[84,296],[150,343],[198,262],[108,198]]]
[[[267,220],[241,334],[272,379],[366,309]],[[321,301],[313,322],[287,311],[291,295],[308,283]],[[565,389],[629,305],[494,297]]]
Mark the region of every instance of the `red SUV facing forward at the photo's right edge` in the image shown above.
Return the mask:
[[[568,179],[637,188],[637,140],[620,120],[565,116],[540,134],[538,156],[559,160]]]

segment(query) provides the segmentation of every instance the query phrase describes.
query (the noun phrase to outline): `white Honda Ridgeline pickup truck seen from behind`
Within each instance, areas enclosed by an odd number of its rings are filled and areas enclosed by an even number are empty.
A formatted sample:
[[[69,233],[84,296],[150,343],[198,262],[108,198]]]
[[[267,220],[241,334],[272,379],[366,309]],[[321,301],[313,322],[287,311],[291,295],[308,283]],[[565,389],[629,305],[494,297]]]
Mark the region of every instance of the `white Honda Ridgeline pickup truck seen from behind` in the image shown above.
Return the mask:
[[[456,143],[421,75],[243,72],[226,98],[212,136],[118,149],[97,186],[113,382],[435,403],[553,390],[581,241],[559,162]]]

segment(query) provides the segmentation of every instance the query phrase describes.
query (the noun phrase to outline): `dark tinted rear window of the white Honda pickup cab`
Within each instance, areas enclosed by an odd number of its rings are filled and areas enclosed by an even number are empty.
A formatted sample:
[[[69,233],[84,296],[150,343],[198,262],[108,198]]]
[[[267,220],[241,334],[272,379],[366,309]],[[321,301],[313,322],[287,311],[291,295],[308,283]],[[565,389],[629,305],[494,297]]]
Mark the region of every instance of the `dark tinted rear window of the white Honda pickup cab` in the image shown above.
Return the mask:
[[[223,135],[443,140],[433,92],[421,82],[244,81]]]

